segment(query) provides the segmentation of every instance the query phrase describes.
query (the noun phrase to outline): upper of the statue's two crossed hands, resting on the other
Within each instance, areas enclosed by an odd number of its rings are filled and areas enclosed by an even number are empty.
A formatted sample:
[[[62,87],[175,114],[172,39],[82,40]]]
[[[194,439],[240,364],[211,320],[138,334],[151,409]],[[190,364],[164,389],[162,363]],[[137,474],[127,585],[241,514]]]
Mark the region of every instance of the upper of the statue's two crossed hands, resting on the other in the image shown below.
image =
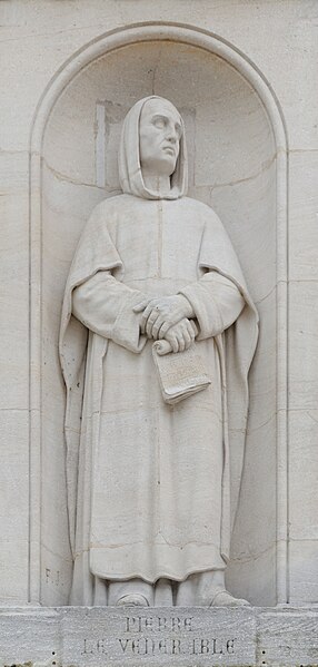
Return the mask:
[[[192,306],[182,294],[155,297],[133,307],[135,313],[142,311],[140,331],[155,341],[163,339],[167,331],[183,317],[193,317]]]

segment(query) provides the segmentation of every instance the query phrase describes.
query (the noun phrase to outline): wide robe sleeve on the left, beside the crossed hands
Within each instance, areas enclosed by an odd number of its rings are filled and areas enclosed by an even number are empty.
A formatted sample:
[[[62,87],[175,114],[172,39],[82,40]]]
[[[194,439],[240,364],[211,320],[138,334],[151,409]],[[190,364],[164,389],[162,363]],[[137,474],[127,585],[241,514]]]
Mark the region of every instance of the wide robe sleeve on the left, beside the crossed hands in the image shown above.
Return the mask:
[[[132,308],[143,300],[145,294],[117,281],[110,271],[100,271],[73,291],[72,313],[87,328],[139,353],[147,337],[140,334],[140,314]]]

